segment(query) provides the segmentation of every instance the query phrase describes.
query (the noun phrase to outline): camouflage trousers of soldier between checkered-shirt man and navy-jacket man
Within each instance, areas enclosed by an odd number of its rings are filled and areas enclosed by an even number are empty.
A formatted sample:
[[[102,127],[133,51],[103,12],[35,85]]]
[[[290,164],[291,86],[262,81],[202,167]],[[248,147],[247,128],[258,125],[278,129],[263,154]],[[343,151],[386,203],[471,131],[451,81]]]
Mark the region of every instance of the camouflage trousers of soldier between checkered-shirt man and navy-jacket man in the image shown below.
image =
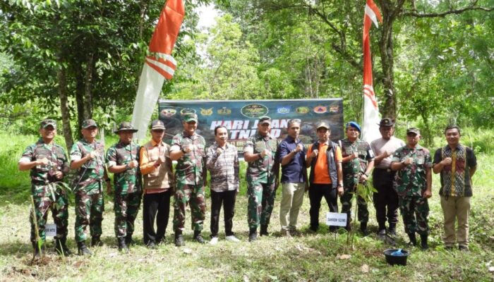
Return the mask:
[[[247,197],[248,227],[268,225],[275,207],[276,183],[248,183]]]

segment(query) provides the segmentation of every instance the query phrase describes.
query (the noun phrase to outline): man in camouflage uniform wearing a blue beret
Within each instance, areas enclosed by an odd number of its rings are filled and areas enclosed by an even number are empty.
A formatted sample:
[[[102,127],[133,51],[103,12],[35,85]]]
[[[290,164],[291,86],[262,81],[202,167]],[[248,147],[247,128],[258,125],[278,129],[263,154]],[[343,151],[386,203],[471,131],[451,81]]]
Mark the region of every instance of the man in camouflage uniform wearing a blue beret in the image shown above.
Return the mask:
[[[354,197],[356,186],[361,183],[367,184],[370,171],[374,167],[374,153],[368,142],[359,139],[361,133],[360,125],[354,121],[347,123],[347,138],[341,140],[343,157],[343,196],[339,198],[342,203],[342,213],[347,213],[347,230],[351,223],[351,199]],[[367,202],[362,197],[357,197],[360,230],[367,235],[367,222],[369,212]]]

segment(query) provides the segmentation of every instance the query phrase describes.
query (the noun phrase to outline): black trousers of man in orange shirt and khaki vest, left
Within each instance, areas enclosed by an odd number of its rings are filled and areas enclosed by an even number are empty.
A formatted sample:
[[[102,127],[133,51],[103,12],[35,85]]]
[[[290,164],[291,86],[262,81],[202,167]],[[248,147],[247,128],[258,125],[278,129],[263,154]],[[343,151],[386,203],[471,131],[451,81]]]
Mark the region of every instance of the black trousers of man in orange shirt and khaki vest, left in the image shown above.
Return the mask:
[[[156,194],[144,194],[143,240],[144,244],[159,243],[164,238],[170,214],[171,189]],[[157,229],[155,231],[155,219]]]

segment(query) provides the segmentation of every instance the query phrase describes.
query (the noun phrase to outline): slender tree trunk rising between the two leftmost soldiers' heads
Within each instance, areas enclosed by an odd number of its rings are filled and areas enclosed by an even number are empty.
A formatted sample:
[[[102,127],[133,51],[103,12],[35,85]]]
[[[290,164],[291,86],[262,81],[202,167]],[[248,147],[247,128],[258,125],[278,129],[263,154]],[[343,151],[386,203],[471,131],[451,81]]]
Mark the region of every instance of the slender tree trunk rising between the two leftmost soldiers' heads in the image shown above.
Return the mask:
[[[71,129],[71,114],[68,110],[68,97],[67,97],[67,79],[66,71],[62,66],[63,59],[59,57],[60,68],[57,71],[57,78],[59,80],[59,97],[60,97],[60,111],[62,114],[62,125],[64,130],[65,144],[68,150],[73,145],[72,129]]]

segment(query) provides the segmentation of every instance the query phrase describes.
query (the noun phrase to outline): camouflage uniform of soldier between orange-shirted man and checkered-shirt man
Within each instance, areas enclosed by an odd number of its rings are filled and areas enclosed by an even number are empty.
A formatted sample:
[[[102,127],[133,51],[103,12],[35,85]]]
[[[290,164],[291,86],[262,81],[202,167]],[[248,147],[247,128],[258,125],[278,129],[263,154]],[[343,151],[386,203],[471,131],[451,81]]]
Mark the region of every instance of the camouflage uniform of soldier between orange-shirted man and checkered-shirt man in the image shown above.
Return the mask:
[[[185,228],[186,206],[190,201],[192,229],[203,230],[206,204],[204,199],[205,146],[204,137],[179,133],[171,141],[170,151],[179,151],[184,145],[193,145],[193,150],[184,154],[175,167],[176,190],[174,195],[174,231],[181,233]]]

